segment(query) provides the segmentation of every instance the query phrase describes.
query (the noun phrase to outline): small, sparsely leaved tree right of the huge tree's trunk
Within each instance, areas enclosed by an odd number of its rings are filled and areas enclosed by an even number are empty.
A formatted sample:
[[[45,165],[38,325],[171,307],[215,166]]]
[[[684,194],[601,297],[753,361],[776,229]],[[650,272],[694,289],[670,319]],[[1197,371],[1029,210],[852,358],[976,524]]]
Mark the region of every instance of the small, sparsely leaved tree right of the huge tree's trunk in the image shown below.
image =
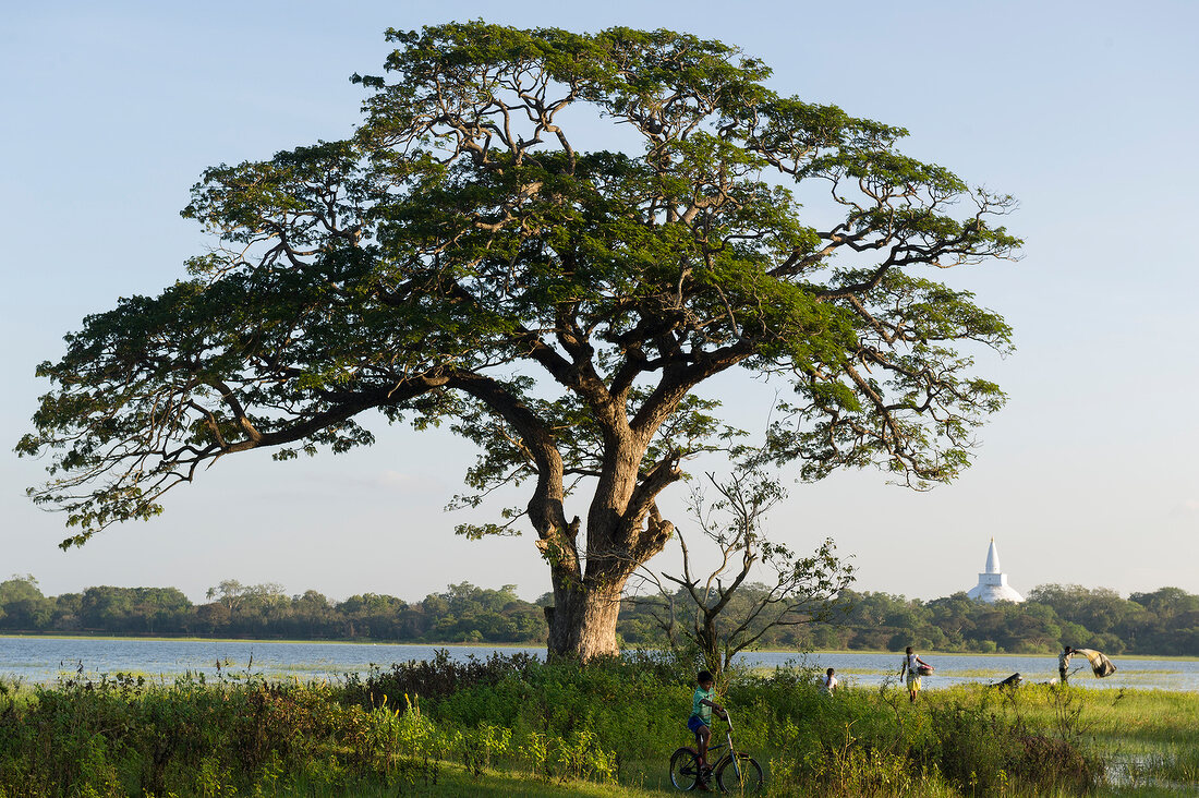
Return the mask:
[[[657,590],[651,613],[670,644],[677,648],[681,634],[719,676],[771,629],[843,616],[849,607],[842,593],[854,582],[855,569],[837,556],[832,538],[800,557],[763,534],[765,516],[787,492],[760,466],[741,466],[727,481],[706,476],[718,497],[709,502],[704,488],[693,486],[689,511],[700,540],[715,545],[715,568],[699,565],[698,552],[687,544],[691,533],[677,528],[682,574],[641,569],[640,576],[643,587]],[[769,580],[751,582],[755,570]]]

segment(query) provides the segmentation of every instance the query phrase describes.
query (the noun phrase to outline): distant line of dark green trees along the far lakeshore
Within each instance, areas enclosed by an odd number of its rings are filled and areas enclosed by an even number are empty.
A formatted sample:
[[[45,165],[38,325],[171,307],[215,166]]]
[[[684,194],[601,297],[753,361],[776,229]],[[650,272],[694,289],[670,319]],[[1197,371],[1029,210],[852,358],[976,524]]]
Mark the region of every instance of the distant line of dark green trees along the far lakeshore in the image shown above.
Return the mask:
[[[742,606],[753,598],[749,586]],[[516,586],[487,589],[451,584],[408,602],[364,593],[330,601],[315,590],[288,595],[278,584],[225,581],[192,604],[176,588],[94,587],[46,596],[32,576],[0,582],[0,630],[106,635],[194,635],[290,640],[370,640],[433,643],[526,643],[546,640],[542,607]],[[848,593],[850,610],[836,624],[770,630],[767,648],[797,650],[1046,652],[1064,644],[1109,654],[1199,655],[1199,595],[1165,587],[1127,599],[1107,588],[1043,584],[1024,604],[987,605],[964,593],[920,601],[886,593]],[[617,631],[626,646],[667,641],[668,601],[626,601]],[[683,596],[675,596],[679,624]],[[737,612],[737,602],[729,613]]]

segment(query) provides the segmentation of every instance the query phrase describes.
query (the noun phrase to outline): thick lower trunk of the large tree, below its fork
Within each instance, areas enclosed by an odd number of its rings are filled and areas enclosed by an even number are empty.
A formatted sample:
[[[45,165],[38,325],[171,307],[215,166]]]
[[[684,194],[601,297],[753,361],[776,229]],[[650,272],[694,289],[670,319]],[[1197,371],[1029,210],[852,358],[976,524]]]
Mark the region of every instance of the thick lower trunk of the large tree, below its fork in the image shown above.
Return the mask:
[[[550,656],[582,661],[620,654],[616,644],[616,617],[620,614],[620,584],[594,588],[586,584],[554,586],[554,606],[546,607],[549,623],[547,648]]]

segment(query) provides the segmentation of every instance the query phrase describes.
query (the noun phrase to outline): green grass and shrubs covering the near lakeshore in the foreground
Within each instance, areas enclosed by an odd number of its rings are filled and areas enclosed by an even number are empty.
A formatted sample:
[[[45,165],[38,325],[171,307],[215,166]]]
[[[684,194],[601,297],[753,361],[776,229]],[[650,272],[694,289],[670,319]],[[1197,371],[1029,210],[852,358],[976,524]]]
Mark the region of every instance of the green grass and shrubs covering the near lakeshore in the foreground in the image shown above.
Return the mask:
[[[689,664],[664,659],[579,667],[516,655],[318,683],[5,684],[0,796],[438,794],[463,780],[480,794],[512,780],[525,794],[562,784],[652,794],[688,742],[692,679]],[[723,691],[773,794],[1199,784],[1195,694],[971,686],[910,704],[898,686],[821,695],[803,670],[735,672]]]

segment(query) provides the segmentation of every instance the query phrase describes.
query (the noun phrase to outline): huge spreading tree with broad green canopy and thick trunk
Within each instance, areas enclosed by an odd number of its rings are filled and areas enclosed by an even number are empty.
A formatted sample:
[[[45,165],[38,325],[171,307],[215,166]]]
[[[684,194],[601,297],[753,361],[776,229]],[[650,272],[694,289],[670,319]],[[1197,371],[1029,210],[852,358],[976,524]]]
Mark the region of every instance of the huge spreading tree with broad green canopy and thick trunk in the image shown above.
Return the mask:
[[[387,36],[351,136],[205,172],[183,214],[216,244],[189,277],[40,367],[18,450],[53,452],[30,492],[67,514],[64,546],[225,455],[369,444],[368,412],[447,421],[481,451],[462,502],[531,484],[459,532],[531,526],[549,648],[589,658],[616,650],[622,587],[671,535],[659,496],[730,445],[695,392],[716,374],[788,382],[769,448],[803,479],[873,463],[924,487],[968,463],[1004,401],[969,349],[1011,331],[929,275],[1011,257],[1011,198],[902,155],[900,128],[776,94],[719,42]]]

